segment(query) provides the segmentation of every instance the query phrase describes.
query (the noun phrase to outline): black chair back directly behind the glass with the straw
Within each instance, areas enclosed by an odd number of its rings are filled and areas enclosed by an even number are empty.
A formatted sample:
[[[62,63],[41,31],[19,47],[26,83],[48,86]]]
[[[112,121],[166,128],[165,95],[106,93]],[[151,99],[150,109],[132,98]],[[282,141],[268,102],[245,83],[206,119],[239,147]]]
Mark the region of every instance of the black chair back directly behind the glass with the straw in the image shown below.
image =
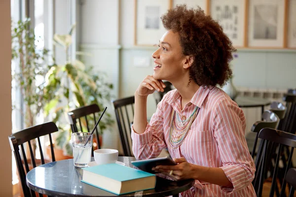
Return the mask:
[[[83,128],[85,127],[87,129],[87,132],[91,132],[93,128],[95,128],[97,120],[99,120],[98,113],[100,111],[101,110],[97,104],[91,104],[91,105],[79,107],[77,109],[74,109],[68,112],[69,123],[71,125],[72,132],[83,131]],[[77,120],[79,123],[79,129],[77,127]],[[93,149],[97,149],[97,148],[100,149],[101,147],[100,147],[100,139],[99,139],[100,136],[98,132],[98,127],[96,127],[95,135],[96,135],[97,147],[93,146]]]

